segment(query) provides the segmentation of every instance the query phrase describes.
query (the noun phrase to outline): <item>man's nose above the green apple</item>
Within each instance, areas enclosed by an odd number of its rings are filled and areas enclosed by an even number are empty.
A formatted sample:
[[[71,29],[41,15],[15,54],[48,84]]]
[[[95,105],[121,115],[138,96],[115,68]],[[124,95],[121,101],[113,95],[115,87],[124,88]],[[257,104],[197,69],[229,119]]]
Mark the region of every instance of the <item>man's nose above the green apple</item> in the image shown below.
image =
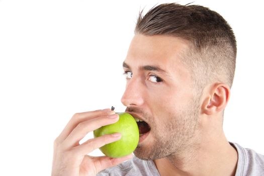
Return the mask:
[[[127,82],[126,90],[121,98],[124,106],[130,107],[132,105],[141,106],[144,103],[144,85],[139,79],[130,79]]]

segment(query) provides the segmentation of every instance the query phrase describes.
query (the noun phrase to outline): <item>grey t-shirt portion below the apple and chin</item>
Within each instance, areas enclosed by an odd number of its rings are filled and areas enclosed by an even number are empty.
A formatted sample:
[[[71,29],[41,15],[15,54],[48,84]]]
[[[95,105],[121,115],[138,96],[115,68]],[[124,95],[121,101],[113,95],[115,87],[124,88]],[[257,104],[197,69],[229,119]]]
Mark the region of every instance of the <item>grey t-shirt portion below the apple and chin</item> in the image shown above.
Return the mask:
[[[155,164],[151,160],[142,160],[134,156],[132,159],[124,161],[117,166],[102,170],[97,175],[159,175]]]

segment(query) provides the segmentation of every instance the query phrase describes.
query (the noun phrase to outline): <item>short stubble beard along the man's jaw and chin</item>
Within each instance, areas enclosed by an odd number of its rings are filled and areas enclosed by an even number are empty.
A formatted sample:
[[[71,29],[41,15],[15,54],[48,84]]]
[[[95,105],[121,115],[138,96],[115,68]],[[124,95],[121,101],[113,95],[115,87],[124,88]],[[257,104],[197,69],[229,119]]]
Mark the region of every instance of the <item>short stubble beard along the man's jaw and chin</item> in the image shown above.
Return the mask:
[[[134,151],[136,157],[143,160],[154,160],[174,153],[184,152],[192,145],[198,122],[199,107],[197,100],[193,100],[185,110],[177,116],[170,113],[163,124],[151,122],[151,143],[139,144]],[[147,114],[144,114],[147,116]],[[146,119],[152,119],[147,117]],[[159,117],[159,119],[163,119]],[[159,127],[157,126],[159,125]]]

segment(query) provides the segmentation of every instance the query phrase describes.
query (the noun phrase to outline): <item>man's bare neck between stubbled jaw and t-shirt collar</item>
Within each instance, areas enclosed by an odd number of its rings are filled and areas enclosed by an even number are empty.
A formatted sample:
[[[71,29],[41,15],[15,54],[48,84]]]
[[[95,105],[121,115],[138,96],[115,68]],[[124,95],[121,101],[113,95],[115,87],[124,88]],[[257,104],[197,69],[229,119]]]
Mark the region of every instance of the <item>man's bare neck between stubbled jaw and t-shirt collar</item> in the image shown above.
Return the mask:
[[[235,175],[237,152],[223,133],[216,139],[203,139],[196,147],[154,160],[161,176]]]

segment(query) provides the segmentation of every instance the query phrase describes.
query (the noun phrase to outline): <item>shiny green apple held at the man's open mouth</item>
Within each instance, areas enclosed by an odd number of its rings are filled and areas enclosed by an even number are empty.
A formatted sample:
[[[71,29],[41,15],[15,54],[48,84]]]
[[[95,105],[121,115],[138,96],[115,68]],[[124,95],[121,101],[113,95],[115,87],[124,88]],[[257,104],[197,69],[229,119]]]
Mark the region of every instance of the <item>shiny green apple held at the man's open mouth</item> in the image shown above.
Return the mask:
[[[139,141],[139,130],[133,116],[128,113],[116,113],[119,120],[110,125],[103,126],[94,131],[94,137],[105,134],[121,133],[120,140],[100,147],[100,150],[107,156],[117,158],[132,153]]]

